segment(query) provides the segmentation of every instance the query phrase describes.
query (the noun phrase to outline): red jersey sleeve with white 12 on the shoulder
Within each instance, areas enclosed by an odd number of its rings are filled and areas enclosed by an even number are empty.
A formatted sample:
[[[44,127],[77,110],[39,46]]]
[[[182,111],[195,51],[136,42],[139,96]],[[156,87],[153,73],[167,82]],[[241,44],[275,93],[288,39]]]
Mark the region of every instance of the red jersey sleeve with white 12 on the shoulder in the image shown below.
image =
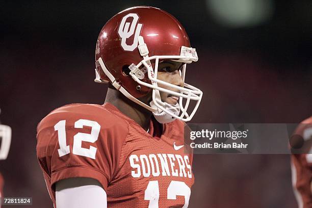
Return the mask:
[[[118,169],[127,124],[110,112],[89,106],[62,107],[37,128],[37,157],[45,179],[55,183],[90,177],[107,186]]]

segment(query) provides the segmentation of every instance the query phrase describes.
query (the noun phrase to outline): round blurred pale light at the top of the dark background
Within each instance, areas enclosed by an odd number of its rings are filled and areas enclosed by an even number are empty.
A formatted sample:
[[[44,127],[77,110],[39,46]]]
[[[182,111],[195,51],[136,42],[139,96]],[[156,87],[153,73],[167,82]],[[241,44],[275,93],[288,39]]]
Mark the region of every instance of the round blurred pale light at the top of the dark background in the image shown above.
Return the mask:
[[[272,0],[206,0],[206,6],[217,23],[228,28],[262,24],[274,12]]]

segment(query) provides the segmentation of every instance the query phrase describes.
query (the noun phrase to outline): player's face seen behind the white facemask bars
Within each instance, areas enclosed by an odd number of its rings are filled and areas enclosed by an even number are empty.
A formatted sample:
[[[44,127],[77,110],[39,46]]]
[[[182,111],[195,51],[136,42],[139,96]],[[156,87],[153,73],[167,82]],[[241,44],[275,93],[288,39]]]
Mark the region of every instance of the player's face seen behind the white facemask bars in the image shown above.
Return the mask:
[[[158,74],[157,78],[164,82],[183,87],[184,82],[182,77],[180,76],[179,70],[182,69],[184,63],[175,62],[175,61],[162,61],[158,66]],[[167,90],[172,90],[175,92],[179,92],[177,89],[162,85],[158,83],[159,87],[165,88]],[[172,95],[170,93],[160,91],[161,99],[163,102],[167,102],[169,104],[175,105],[178,102],[178,97]]]

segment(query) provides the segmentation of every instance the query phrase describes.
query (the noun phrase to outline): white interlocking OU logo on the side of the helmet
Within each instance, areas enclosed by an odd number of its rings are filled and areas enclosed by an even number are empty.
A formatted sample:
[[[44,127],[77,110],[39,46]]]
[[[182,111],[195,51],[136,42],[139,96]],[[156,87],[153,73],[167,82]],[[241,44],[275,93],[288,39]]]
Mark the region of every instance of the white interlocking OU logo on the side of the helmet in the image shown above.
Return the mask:
[[[130,22],[126,22],[128,17],[133,17],[133,20],[131,22],[131,27]],[[120,22],[119,28],[118,28],[118,35],[121,38],[121,47],[124,50],[127,51],[133,51],[138,47],[138,41],[139,41],[139,35],[142,29],[142,24],[138,24],[139,16],[138,14],[135,13],[129,13],[126,16],[124,16]],[[127,38],[134,36],[133,43],[131,45],[128,45],[126,43]]]

